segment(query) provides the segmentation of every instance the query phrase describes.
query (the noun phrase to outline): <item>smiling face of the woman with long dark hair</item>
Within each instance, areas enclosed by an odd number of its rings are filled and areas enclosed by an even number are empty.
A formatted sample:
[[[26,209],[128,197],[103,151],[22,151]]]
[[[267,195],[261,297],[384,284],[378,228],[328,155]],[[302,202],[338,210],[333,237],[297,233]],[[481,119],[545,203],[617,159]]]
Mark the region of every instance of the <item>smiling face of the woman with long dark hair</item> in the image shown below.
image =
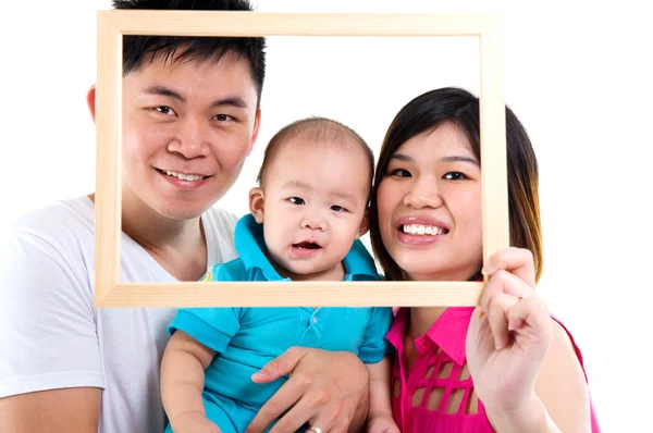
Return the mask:
[[[383,245],[410,280],[465,281],[481,269],[481,169],[455,124],[404,143],[377,202]]]

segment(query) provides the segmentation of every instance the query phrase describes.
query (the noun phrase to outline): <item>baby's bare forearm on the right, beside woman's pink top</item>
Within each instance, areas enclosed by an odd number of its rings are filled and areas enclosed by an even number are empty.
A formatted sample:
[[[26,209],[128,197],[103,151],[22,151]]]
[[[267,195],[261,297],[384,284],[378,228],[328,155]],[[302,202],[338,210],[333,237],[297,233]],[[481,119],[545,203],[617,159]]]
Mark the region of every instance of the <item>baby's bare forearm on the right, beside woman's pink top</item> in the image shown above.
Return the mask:
[[[370,374],[370,410],[368,412],[369,433],[398,433],[392,418],[391,386],[392,357],[385,356],[380,362],[367,363]]]

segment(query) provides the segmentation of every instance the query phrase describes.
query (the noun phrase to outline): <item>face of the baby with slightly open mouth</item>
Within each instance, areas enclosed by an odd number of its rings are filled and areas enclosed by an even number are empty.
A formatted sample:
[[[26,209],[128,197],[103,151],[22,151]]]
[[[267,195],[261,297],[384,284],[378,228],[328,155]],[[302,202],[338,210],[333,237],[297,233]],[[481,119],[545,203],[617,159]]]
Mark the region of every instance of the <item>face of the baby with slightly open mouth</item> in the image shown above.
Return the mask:
[[[369,162],[352,146],[284,144],[263,185],[266,245],[293,280],[338,280],[361,235]]]

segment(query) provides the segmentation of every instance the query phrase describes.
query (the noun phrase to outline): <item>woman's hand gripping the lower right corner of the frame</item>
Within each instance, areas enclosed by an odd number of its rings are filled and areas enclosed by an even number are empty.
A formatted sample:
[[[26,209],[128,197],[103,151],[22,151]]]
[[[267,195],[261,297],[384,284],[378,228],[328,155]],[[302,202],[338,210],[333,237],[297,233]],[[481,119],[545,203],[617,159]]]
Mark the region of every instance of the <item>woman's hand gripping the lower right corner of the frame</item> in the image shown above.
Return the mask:
[[[492,256],[489,281],[467,333],[467,363],[489,416],[526,417],[537,405],[534,383],[552,342],[552,320],[535,295],[529,250],[508,248]]]

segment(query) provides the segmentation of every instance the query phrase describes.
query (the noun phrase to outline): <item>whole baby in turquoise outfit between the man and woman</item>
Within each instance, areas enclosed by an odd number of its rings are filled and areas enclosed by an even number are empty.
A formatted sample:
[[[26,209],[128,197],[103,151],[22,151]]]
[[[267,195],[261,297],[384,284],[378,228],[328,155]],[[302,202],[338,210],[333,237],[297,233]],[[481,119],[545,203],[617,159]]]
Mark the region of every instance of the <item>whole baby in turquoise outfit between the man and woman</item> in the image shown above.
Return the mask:
[[[373,163],[362,138],[335,121],[282,128],[249,193],[250,214],[236,224],[239,258],[215,264],[205,280],[379,280],[358,239],[368,230]],[[180,309],[161,366],[165,431],[245,431],[285,381],[257,384],[251,375],[292,346],[356,354],[370,373],[369,413],[381,418],[373,424],[396,429],[381,362],[391,352],[391,320],[389,308]]]

